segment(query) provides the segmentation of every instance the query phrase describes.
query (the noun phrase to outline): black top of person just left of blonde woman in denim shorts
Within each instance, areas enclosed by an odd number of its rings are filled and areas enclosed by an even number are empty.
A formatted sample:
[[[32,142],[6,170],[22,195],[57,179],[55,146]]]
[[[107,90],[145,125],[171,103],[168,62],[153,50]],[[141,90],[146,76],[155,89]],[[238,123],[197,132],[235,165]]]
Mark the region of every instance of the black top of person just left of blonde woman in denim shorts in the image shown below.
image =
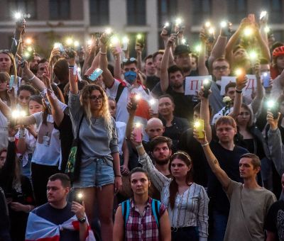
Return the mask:
[[[64,117],[59,126],[54,123],[54,127],[59,130],[59,138],[61,142],[61,156],[62,162],[60,170],[65,172],[65,167],[68,161],[70,149],[73,142],[73,130],[70,116],[64,113]]]

